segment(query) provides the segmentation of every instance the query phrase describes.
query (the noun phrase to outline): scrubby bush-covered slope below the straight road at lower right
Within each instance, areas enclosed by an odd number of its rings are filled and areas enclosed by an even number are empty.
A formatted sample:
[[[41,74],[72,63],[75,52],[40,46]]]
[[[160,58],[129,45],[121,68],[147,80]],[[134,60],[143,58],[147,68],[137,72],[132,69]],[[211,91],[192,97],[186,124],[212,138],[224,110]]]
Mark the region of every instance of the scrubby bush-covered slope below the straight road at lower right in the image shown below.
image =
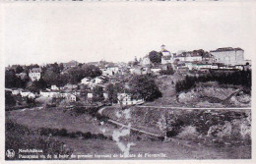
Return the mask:
[[[171,115],[168,120],[167,137],[202,137],[249,140],[250,112],[193,110]]]

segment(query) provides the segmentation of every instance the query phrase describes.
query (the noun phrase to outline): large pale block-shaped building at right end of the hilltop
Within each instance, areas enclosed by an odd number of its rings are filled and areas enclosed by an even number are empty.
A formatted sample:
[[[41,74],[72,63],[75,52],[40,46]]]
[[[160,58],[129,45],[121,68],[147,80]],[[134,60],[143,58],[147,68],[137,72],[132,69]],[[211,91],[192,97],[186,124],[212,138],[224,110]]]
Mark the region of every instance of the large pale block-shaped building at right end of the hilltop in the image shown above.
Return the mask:
[[[224,47],[210,51],[214,56],[215,63],[224,63],[224,65],[245,65],[244,50],[241,48]]]

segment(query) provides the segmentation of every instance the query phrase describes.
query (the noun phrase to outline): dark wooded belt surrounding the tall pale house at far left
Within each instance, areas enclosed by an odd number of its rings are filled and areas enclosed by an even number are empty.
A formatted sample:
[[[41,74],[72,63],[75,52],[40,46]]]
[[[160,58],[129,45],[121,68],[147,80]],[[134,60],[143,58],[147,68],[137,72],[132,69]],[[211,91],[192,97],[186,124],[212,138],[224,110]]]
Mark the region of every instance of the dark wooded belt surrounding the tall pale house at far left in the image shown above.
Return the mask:
[[[74,68],[64,69],[63,64],[47,64],[41,67],[41,78],[38,82],[31,82],[29,78],[29,71],[32,68],[38,68],[38,65],[30,66],[13,66],[11,69],[5,71],[5,86],[12,88],[27,88],[37,92],[39,89],[44,89],[51,84],[57,86],[64,86],[67,83],[78,83],[83,78],[95,78],[101,76],[101,71],[94,65],[79,65]],[[24,73],[24,76],[18,74]]]

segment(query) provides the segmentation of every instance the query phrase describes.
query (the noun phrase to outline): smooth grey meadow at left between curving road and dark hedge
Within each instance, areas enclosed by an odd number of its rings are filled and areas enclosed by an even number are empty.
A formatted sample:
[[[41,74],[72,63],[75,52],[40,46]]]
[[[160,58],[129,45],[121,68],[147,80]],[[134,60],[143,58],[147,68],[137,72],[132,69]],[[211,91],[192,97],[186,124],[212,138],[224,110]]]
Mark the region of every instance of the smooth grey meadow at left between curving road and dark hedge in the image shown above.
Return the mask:
[[[91,115],[86,113],[77,115],[75,112],[61,108],[16,110],[7,112],[6,117],[34,129],[66,129],[69,133],[102,134],[99,122]],[[110,126],[104,127],[104,129],[107,130],[106,136],[112,134]]]

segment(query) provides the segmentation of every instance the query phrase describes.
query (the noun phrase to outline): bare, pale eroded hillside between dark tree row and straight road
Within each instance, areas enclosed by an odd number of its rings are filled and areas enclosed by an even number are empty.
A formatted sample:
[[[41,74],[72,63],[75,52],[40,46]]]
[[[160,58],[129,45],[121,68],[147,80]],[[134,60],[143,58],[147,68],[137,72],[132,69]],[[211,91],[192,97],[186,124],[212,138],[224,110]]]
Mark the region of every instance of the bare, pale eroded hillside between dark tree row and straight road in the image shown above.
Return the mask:
[[[240,85],[219,84],[218,82],[198,82],[187,91],[176,93],[175,83],[184,79],[179,75],[159,76],[162,97],[149,106],[182,106],[182,107],[250,107],[251,95],[248,89]]]

